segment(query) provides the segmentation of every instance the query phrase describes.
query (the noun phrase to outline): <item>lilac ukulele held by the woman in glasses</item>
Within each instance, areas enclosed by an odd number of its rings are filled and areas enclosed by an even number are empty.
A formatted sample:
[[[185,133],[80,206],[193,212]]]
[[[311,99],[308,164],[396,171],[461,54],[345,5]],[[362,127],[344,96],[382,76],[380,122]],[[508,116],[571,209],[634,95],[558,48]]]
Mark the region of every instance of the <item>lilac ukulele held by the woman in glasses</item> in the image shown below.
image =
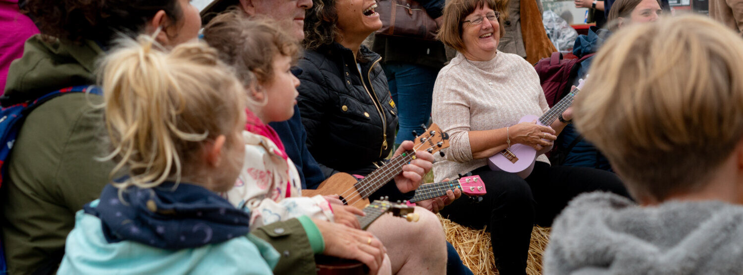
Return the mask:
[[[536,123],[542,126],[550,126],[557,120],[560,114],[565,109],[568,109],[573,104],[573,98],[583,88],[583,80],[578,82],[578,87],[570,91],[559,103],[555,104],[549,111],[542,115],[542,117],[536,117],[536,115],[528,114],[519,120],[522,122],[532,122],[536,120]],[[503,151],[493,155],[487,159],[487,166],[493,171],[505,171],[515,173],[519,177],[526,178],[531,174],[531,170],[534,169],[534,161],[536,161],[537,155],[542,155],[545,152],[549,152],[552,147],[546,147],[541,151],[537,152],[531,146],[516,143],[506,148]]]

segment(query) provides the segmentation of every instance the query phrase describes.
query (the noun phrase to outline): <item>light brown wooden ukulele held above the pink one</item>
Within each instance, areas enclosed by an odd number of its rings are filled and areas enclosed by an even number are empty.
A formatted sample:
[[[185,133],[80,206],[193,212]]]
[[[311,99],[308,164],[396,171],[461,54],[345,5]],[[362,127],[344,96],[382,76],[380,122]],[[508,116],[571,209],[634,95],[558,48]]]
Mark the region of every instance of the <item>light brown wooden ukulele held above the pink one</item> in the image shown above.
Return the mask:
[[[404,152],[392,158],[387,164],[367,175],[366,178],[357,180],[353,175],[346,173],[337,173],[322,182],[317,190],[302,190],[302,195],[311,197],[314,195],[340,195],[340,200],[345,204],[357,208],[369,205],[369,195],[379,190],[384,184],[387,184],[400,172],[403,172],[403,166],[409,164],[415,159],[415,152],[426,151],[429,153],[438,152],[441,149],[449,147],[449,135],[441,132],[436,124],[432,124],[424,135],[420,135],[414,140],[415,145],[412,150]]]

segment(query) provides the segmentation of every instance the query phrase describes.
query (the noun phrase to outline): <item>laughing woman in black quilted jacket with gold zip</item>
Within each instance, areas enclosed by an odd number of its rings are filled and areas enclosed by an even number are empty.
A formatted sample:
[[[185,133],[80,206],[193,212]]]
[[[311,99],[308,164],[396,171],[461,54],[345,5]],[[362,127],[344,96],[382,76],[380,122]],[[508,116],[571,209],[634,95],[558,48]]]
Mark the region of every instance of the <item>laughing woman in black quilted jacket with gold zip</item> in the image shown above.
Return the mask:
[[[308,149],[325,171],[367,175],[392,152],[398,117],[379,64],[382,58],[361,45],[382,27],[375,6],[374,0],[314,0],[305,19],[307,51],[297,65],[302,69],[297,75],[299,109]],[[412,145],[402,143],[397,153]],[[369,198],[411,195],[433,160],[428,152],[416,154],[418,159],[403,166],[395,181]],[[418,222],[383,217],[369,231],[387,248],[393,273],[444,274],[447,248],[441,223],[421,207],[415,213],[421,215]]]

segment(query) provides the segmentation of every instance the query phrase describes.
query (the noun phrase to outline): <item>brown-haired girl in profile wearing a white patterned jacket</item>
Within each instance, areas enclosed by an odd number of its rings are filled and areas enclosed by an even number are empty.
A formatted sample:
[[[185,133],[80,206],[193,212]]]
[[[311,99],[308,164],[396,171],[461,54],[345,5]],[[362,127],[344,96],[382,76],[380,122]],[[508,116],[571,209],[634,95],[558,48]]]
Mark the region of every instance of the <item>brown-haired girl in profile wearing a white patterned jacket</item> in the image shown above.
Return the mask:
[[[250,99],[244,132],[246,158],[235,188],[226,193],[230,202],[250,211],[250,226],[309,216],[358,227],[354,214],[360,210],[333,205],[321,195],[302,197],[296,166],[287,157],[276,132],[266,123],[291,118],[299,80],[291,67],[299,57],[299,45],[266,19],[247,19],[232,10],[204,28],[204,40],[233,65]],[[255,114],[255,115],[252,115]]]

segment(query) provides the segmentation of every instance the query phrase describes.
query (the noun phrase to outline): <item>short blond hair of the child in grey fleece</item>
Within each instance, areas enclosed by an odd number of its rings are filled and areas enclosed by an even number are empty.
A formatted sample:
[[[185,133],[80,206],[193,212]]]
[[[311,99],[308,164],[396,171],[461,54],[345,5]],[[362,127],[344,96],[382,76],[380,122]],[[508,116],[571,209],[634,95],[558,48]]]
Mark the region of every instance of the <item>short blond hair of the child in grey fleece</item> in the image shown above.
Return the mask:
[[[614,33],[575,102],[575,120],[635,198],[693,192],[743,137],[743,40],[679,16]]]

